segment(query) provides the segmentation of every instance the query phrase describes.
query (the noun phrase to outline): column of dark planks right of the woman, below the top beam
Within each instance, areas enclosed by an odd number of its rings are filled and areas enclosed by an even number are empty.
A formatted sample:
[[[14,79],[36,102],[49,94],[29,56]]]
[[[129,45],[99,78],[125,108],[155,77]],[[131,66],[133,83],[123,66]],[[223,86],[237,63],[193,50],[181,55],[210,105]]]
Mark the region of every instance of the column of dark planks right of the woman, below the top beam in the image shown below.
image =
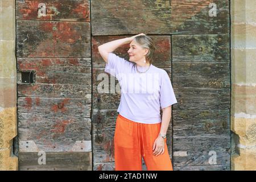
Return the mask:
[[[174,170],[230,170],[229,35],[172,35],[172,80]]]

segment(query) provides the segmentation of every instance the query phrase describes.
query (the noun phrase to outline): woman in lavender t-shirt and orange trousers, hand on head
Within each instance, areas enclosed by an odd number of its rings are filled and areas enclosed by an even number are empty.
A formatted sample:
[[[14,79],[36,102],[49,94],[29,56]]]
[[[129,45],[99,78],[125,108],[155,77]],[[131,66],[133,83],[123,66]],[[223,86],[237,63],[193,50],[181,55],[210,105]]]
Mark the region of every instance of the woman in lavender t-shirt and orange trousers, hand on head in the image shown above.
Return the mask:
[[[113,51],[130,43],[129,61]],[[121,101],[114,134],[115,170],[172,171],[166,144],[171,105],[177,103],[170,78],[152,65],[155,44],[145,34],[113,40],[98,46],[105,72],[117,77]],[[162,119],[160,115],[162,109]]]

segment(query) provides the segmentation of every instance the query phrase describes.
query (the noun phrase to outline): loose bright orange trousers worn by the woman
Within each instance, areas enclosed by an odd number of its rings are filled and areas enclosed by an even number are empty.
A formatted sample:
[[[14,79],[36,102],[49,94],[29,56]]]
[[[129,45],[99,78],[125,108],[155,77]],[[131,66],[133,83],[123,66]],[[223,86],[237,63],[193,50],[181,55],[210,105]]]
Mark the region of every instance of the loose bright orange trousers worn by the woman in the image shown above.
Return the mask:
[[[114,133],[115,171],[142,171],[142,156],[148,171],[173,171],[164,139],[164,153],[153,155],[161,123],[144,124],[118,114]]]

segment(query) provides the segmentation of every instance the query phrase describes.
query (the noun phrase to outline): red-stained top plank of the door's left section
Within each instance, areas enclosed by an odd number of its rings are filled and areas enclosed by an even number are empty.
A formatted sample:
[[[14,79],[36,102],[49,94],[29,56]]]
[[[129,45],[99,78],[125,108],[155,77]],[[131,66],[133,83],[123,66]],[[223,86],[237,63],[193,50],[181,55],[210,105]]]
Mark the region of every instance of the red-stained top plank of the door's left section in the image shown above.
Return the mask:
[[[90,1],[17,0],[16,19],[90,22]]]

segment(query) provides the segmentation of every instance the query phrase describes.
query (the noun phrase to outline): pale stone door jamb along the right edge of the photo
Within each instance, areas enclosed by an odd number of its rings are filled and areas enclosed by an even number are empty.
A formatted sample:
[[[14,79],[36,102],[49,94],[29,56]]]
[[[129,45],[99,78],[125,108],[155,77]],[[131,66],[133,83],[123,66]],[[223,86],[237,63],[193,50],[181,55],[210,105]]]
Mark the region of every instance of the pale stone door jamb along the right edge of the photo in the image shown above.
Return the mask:
[[[232,0],[232,170],[256,170],[256,1]]]

